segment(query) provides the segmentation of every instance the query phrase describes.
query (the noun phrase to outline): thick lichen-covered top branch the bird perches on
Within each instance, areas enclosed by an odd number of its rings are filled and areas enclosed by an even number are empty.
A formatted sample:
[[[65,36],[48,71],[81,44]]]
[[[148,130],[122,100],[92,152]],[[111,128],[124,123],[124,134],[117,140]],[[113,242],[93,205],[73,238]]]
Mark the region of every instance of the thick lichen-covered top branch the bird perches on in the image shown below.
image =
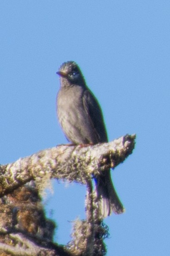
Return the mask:
[[[132,154],[135,135],[125,135],[109,143],[68,146],[42,150],[16,162],[0,166],[0,196],[30,180],[67,179],[86,184],[92,173],[115,167]]]

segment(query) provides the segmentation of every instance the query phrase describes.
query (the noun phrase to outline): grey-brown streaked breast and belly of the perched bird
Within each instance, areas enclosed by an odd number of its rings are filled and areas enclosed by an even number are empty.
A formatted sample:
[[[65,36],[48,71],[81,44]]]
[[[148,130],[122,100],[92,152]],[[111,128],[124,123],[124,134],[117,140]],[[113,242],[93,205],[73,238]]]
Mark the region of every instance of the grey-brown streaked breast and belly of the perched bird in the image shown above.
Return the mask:
[[[94,132],[83,104],[83,91],[60,90],[57,96],[57,115],[61,128],[72,143],[93,142]]]

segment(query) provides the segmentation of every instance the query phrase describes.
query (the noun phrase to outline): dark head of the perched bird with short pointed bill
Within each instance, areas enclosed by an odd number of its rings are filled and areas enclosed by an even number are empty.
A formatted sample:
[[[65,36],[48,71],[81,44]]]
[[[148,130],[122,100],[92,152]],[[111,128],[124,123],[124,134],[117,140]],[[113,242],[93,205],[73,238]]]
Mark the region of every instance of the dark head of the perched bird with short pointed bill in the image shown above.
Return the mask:
[[[66,78],[72,84],[84,83],[84,77],[81,70],[74,61],[64,62],[56,74],[60,77]]]

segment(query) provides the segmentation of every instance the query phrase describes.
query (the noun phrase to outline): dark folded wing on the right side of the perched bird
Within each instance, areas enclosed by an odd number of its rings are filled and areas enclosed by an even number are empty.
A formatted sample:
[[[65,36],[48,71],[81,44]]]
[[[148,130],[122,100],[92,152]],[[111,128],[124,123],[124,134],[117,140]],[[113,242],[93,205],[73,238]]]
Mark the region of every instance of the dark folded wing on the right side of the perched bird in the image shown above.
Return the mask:
[[[107,142],[108,138],[103,121],[102,110],[97,99],[89,90],[85,90],[84,92],[83,105],[91,122],[91,126],[94,128],[94,134],[95,137],[97,137],[97,142]]]

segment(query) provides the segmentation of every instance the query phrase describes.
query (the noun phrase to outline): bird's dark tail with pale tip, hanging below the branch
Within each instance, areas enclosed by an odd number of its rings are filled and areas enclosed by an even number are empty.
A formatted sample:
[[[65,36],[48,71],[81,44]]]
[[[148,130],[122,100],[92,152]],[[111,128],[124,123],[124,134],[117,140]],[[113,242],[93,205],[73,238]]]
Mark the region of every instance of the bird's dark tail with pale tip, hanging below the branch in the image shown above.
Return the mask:
[[[113,186],[110,170],[107,170],[103,175],[96,177],[95,181],[101,217],[106,218],[111,215],[112,212],[115,214],[123,213],[125,208],[121,204]]]

